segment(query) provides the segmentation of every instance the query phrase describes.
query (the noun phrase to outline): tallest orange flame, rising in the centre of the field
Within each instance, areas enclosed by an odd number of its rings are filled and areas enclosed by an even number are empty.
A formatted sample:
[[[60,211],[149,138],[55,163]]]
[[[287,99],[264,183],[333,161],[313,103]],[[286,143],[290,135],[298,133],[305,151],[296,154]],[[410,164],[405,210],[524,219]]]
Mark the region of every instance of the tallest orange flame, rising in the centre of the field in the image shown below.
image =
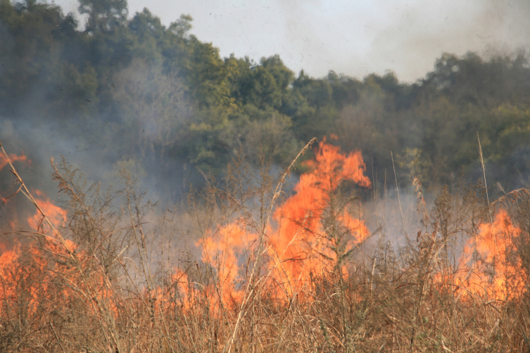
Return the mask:
[[[324,141],[319,144],[315,160],[305,162],[312,172],[302,174],[295,186],[296,194],[284,205],[278,207],[274,219],[279,228],[270,237],[273,245],[271,254],[277,255],[276,262],[291,290],[297,290],[310,274],[322,274],[332,270],[336,261],[332,253],[332,240],[326,235],[322,225],[323,212],[331,205],[330,197],[343,181],[353,181],[364,187],[370,187],[370,179],[364,175],[366,165],[359,151],[348,155],[341,153],[340,147]],[[364,222],[353,219],[346,209],[334,215],[355,237],[348,241],[351,250],[369,235]],[[333,259],[324,260],[324,257]]]

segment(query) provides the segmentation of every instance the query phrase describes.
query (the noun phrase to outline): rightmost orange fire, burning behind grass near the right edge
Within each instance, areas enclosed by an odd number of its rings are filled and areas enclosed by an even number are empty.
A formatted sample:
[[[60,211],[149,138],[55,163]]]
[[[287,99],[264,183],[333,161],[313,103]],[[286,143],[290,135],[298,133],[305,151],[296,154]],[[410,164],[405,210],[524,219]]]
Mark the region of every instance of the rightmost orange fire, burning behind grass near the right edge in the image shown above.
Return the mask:
[[[479,235],[465,244],[460,259],[463,271],[459,271],[456,284],[488,299],[518,297],[524,290],[524,277],[520,273],[520,259],[512,259],[516,250],[512,239],[520,233],[502,209],[496,214],[493,226],[481,224]]]

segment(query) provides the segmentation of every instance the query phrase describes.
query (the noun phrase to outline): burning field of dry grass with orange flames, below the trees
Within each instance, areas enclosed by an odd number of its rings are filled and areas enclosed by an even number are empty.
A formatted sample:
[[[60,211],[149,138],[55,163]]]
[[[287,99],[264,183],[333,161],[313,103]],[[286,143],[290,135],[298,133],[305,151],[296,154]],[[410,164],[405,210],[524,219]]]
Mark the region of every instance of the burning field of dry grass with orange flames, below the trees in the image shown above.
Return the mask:
[[[105,193],[52,161],[57,204],[2,153],[0,349],[530,351],[526,189],[488,203],[481,184],[444,188],[428,211],[415,182],[405,230],[381,218],[360,151],[310,145],[292,192],[290,169],[234,160],[225,187],[165,212],[125,170]]]

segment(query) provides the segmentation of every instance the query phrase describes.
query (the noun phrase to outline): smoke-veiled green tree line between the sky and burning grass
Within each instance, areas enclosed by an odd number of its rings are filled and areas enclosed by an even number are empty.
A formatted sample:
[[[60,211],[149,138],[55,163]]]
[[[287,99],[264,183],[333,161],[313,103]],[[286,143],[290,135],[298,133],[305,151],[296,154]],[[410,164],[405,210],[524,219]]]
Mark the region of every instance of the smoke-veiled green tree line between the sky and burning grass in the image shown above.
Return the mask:
[[[59,6],[0,0],[0,120],[68,126],[109,158],[168,175],[178,166],[188,180],[222,174],[237,153],[284,166],[313,136],[335,134],[343,150],[362,150],[379,181],[392,151],[400,183],[417,177],[427,188],[462,172],[479,178],[478,132],[498,190],[529,181],[524,51],[443,53],[415,83],[390,71],[315,78],[277,55],[222,58],[190,34],[189,15],[166,27],[147,8],[128,17],[126,0],[80,0],[79,9],[83,30]]]

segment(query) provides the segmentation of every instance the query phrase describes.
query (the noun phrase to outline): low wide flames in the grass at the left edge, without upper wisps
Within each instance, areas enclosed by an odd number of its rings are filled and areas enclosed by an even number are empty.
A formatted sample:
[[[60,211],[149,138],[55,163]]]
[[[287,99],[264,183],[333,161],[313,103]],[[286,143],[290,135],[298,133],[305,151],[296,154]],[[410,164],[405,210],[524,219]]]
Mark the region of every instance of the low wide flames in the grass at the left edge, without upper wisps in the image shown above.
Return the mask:
[[[27,309],[27,317],[34,320],[42,315],[39,307],[43,303],[62,304],[84,302],[94,312],[96,307],[89,301],[108,303],[108,309],[115,317],[118,306],[111,293],[103,271],[94,271],[89,262],[94,257],[77,248],[71,240],[65,244],[58,240],[29,245],[16,244],[12,250],[0,255],[0,315],[13,314],[20,309],[20,303]],[[75,251],[76,262],[70,259]],[[53,255],[53,256],[50,256]],[[97,264],[96,264],[97,266]],[[80,269],[84,275],[80,274]],[[58,282],[58,278],[61,281]],[[91,296],[78,293],[91,293]]]

